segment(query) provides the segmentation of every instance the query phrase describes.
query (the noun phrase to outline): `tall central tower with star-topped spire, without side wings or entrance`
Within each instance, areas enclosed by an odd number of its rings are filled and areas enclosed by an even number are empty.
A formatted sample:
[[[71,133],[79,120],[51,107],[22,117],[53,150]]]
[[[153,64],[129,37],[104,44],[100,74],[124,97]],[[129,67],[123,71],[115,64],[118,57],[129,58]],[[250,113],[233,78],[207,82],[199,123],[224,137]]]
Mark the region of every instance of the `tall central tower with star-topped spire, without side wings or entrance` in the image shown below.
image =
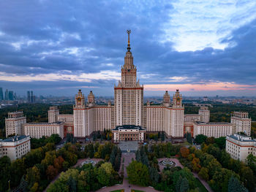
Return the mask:
[[[128,45],[124,57],[124,66],[121,66],[121,81],[115,85],[115,118],[116,126],[135,125],[143,123],[143,86],[137,81],[137,69],[133,64],[129,34]]]

